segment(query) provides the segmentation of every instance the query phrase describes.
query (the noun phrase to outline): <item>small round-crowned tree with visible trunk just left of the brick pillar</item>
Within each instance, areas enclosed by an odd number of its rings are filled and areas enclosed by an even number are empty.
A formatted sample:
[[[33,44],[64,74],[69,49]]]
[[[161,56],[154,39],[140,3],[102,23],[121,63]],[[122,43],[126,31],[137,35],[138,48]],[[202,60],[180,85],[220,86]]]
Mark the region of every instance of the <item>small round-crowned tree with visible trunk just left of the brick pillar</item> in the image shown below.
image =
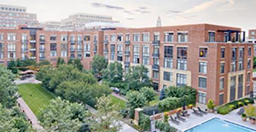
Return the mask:
[[[130,91],[126,95],[126,108],[129,109],[130,117],[134,117],[134,109],[143,108],[146,105],[146,97],[138,91]]]

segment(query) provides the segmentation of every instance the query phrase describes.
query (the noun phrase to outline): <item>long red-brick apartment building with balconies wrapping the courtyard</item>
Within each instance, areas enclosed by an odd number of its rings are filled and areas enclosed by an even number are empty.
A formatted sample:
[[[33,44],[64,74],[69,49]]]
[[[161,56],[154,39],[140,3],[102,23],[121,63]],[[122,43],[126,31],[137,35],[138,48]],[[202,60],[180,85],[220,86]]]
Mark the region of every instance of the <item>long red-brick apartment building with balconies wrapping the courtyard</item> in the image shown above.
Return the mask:
[[[242,39],[241,39],[242,38]],[[40,28],[0,30],[0,64],[11,59],[79,58],[90,68],[95,54],[124,69],[145,65],[154,89],[188,85],[198,90],[198,103],[217,105],[252,91],[254,45],[239,28],[192,24],[102,31],[44,31]]]

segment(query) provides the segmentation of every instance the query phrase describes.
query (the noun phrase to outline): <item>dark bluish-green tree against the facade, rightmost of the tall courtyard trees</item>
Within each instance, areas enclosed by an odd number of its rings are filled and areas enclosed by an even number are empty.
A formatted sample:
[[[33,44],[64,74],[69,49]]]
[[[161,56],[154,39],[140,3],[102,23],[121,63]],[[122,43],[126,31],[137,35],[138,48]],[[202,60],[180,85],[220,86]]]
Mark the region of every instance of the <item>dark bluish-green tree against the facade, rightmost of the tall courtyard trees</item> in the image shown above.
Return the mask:
[[[148,77],[148,68],[143,65],[132,66],[125,76],[129,90],[139,90],[142,87],[151,87],[152,81]]]

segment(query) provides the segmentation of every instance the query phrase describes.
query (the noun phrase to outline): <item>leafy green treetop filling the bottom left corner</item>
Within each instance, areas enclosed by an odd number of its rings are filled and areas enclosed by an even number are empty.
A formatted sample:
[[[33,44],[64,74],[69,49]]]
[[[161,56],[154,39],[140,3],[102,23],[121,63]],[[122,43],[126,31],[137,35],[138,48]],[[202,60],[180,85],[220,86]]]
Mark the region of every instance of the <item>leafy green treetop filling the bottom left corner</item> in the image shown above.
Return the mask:
[[[31,131],[31,125],[18,108],[6,109],[0,103],[0,131]]]

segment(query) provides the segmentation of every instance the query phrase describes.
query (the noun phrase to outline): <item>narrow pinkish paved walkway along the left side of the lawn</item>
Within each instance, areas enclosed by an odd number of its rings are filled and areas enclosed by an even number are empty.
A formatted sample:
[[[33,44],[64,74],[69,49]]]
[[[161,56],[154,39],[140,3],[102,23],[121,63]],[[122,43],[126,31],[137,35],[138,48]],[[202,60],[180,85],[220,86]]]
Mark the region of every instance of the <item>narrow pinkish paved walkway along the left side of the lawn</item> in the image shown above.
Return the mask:
[[[31,109],[26,105],[25,101],[22,98],[18,98],[18,104],[20,104],[20,109],[25,113],[26,118],[31,121],[32,127],[36,130],[42,130],[42,127],[39,125],[38,119],[31,111]]]

